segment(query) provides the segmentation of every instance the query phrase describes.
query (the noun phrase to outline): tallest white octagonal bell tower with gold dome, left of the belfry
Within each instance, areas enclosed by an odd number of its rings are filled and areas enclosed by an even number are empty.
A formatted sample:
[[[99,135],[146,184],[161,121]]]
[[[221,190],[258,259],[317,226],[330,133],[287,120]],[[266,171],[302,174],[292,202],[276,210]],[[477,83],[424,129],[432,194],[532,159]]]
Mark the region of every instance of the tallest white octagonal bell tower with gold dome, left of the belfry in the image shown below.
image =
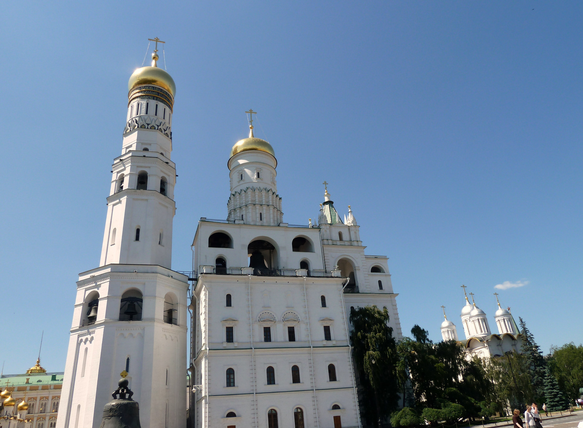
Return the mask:
[[[141,425],[185,427],[188,277],[171,270],[176,88],[157,67],[128,82],[121,155],[114,159],[101,259],[79,274],[58,428],[99,426],[121,371]]]

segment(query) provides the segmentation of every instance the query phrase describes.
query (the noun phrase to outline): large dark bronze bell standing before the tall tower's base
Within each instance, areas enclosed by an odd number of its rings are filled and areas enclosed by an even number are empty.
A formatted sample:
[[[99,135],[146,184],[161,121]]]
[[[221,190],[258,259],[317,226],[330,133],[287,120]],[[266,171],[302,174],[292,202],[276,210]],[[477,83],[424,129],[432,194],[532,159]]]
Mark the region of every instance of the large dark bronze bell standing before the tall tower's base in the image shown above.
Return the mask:
[[[100,428],[142,428],[140,425],[140,407],[132,400],[134,392],[128,388],[128,381],[121,378],[117,388],[103,409]]]

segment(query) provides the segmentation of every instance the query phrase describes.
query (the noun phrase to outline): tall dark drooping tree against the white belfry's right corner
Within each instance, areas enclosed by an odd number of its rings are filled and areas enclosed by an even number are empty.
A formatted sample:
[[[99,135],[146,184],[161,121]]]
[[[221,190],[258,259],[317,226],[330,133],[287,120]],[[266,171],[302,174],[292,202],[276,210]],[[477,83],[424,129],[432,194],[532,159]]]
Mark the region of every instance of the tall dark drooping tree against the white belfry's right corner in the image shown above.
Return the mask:
[[[360,378],[360,406],[368,423],[386,419],[397,408],[398,354],[387,308],[376,306],[350,310],[350,335]]]

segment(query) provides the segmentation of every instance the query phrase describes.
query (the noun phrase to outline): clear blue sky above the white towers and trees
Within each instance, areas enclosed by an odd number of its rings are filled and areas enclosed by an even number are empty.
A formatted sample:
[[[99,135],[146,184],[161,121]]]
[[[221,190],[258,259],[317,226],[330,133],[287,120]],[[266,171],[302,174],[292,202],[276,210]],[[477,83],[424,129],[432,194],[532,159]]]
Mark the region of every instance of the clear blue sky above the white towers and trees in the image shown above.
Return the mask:
[[[226,166],[256,135],[285,220],[326,180],[387,255],[403,332],[461,330],[460,286],[522,316],[545,352],[583,342],[581,2],[10,2],[3,5],[4,373],[64,370],[77,274],[97,267],[129,75],[167,41],[173,268],[225,218]],[[163,61],[161,61],[163,64]],[[508,281],[521,287],[496,290]]]

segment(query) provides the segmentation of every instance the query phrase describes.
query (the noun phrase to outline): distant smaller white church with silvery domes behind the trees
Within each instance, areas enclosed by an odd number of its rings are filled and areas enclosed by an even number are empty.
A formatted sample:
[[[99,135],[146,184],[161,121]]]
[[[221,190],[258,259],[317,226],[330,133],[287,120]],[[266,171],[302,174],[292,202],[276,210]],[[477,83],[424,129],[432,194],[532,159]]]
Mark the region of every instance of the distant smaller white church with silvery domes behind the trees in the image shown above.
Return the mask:
[[[510,313],[510,308],[502,308],[500,301],[498,301],[498,295],[495,294],[498,310],[494,314],[494,320],[496,321],[498,333],[492,333],[486,313],[477,307],[473,293],[469,293],[472,296],[472,303],[470,303],[465,286],[462,287],[466,304],[462,308],[460,316],[462,319],[463,333],[466,338],[465,340],[458,338],[455,324],[447,319],[445,308],[442,307],[445,318],[441,323],[442,339],[455,340],[456,342],[462,343],[470,358],[480,357],[487,359],[490,357],[500,357],[511,351],[520,353],[522,339],[520,330]]]

